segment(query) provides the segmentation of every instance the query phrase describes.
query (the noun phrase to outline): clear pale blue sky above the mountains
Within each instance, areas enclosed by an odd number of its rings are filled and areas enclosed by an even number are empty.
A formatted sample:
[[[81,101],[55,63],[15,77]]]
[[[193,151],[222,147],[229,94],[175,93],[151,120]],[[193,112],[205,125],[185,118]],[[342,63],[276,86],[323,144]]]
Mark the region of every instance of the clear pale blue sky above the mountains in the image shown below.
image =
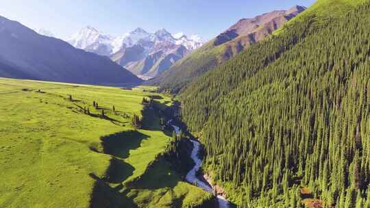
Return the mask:
[[[5,2],[3,2],[5,1]],[[210,39],[240,18],[306,7],[315,0],[3,0],[0,15],[34,29],[47,29],[67,38],[90,25],[108,34],[123,34],[136,27],[171,33],[199,34]]]

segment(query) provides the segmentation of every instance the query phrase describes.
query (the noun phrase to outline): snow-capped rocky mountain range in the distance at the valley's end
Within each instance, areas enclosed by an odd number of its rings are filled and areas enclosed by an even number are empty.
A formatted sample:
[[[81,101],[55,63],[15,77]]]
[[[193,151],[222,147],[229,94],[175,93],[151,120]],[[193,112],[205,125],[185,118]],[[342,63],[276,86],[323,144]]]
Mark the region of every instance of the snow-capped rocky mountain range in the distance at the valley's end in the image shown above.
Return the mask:
[[[88,26],[67,41],[77,49],[108,56],[144,79],[156,77],[204,44],[199,36],[170,34],[164,28],[149,33],[140,27],[115,37]]]

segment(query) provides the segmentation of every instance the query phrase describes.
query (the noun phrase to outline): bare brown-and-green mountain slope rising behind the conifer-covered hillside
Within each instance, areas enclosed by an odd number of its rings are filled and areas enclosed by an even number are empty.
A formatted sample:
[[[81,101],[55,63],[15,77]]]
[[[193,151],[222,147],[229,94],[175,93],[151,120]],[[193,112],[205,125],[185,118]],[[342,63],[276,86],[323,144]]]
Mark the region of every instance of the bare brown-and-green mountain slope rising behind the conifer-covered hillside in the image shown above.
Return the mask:
[[[306,8],[294,6],[275,10],[254,18],[243,18],[213,40],[190,53],[148,83],[157,84],[162,91],[180,92],[188,83],[256,44],[279,29]]]

